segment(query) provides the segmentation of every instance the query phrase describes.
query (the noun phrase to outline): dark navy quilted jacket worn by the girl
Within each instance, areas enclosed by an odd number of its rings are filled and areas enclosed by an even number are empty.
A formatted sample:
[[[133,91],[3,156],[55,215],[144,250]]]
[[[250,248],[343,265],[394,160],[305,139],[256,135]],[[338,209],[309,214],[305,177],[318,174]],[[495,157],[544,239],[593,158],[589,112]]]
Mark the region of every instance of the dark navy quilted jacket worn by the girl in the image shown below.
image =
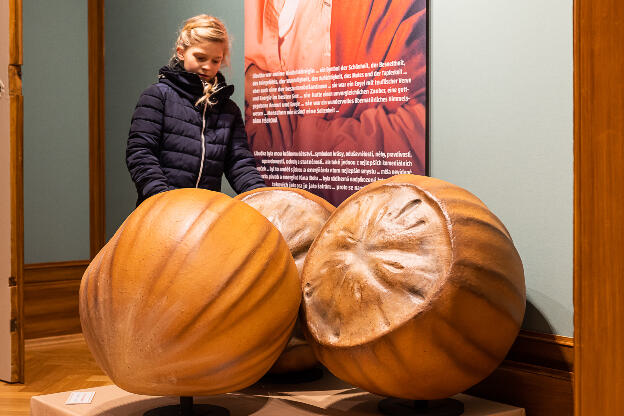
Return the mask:
[[[241,112],[230,99],[234,86],[226,86],[219,73],[223,88],[213,95],[217,104],[204,109],[203,104],[195,106],[203,94],[197,74],[165,66],[159,78],[141,94],[128,137],[126,163],[139,194],[137,205],[171,189],[220,191],[223,174],[238,193],[265,186],[247,144]]]

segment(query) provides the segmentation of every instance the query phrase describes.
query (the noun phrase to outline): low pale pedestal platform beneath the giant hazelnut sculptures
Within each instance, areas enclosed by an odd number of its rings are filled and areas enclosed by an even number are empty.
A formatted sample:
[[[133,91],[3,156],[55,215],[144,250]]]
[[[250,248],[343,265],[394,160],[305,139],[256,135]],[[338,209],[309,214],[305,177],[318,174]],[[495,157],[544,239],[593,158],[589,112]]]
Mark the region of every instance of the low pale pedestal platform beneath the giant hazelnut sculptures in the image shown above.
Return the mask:
[[[141,396],[117,386],[104,386],[95,391],[91,404],[64,404],[69,392],[33,396],[31,416],[142,416],[155,407],[179,403],[177,397]],[[464,403],[463,416],[525,416],[524,409],[465,394],[453,397]],[[231,416],[310,416],[310,415],[375,415],[382,397],[351,387],[325,376],[319,381],[300,385],[255,384],[245,390],[218,396],[195,397],[195,403],[223,406]]]

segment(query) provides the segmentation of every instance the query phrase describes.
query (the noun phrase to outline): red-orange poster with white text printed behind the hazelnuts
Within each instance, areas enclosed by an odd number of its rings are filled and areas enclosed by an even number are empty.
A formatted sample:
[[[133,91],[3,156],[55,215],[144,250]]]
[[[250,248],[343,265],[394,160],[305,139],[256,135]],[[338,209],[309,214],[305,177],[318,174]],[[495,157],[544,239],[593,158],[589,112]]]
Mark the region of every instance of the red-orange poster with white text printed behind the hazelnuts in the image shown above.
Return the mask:
[[[338,205],[427,173],[426,0],[245,0],[245,122],[269,186]]]

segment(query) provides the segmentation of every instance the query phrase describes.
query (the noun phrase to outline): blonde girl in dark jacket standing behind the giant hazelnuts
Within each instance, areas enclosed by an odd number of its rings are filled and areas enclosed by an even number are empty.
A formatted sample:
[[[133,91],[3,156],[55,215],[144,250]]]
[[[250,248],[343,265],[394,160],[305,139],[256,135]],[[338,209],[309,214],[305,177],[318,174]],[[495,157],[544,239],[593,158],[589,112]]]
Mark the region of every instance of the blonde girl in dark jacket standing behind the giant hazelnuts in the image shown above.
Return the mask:
[[[219,72],[229,63],[229,45],[219,19],[188,19],[159,81],[141,94],[126,149],[137,206],[171,189],[220,191],[223,174],[238,193],[265,186],[230,99],[234,86]]]

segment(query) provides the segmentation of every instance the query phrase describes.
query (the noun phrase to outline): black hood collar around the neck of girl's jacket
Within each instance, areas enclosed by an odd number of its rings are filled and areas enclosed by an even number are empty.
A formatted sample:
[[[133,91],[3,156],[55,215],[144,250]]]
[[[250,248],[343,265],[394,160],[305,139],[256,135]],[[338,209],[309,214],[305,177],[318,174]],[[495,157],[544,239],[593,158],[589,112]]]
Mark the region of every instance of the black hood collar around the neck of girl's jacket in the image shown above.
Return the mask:
[[[184,70],[179,63],[174,66],[165,65],[158,71],[160,82],[169,85],[178,94],[188,98],[193,104],[204,95],[204,86],[199,75]],[[218,88],[212,95],[212,99],[217,103],[223,103],[234,93],[234,85],[227,85],[225,77],[221,72],[217,72]]]

